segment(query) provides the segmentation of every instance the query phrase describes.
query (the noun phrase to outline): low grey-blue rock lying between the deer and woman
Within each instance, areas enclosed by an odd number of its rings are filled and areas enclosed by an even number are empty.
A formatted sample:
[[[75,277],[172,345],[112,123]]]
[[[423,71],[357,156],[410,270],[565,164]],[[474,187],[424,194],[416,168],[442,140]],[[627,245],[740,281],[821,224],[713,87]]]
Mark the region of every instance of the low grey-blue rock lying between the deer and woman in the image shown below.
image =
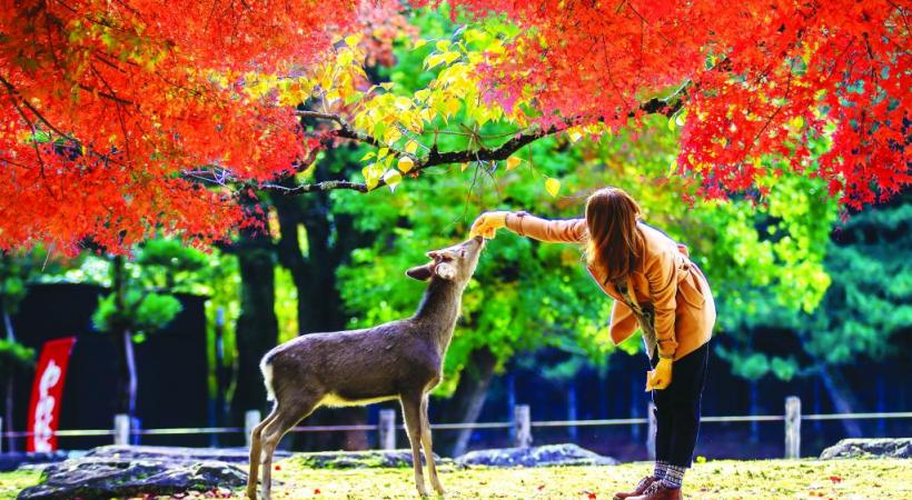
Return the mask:
[[[457,458],[456,463],[490,467],[614,466],[617,460],[565,443],[469,451]]]

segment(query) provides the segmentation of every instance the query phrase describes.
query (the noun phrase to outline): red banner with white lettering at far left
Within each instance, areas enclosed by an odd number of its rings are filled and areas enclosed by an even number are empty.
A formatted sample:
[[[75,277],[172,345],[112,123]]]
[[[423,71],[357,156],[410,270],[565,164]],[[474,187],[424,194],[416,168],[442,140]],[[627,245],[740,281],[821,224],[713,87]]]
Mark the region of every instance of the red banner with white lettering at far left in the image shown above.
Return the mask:
[[[29,439],[26,451],[57,450],[57,423],[60,416],[60,399],[63,396],[63,379],[76,337],[44,342],[29,404]]]

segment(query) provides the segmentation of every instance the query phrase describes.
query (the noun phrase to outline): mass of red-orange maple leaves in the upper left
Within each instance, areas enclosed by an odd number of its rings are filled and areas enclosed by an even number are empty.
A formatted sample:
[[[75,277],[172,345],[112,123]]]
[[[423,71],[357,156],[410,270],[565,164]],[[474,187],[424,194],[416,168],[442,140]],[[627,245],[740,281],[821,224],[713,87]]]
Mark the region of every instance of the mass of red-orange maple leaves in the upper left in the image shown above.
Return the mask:
[[[118,250],[155,230],[224,236],[240,209],[229,192],[200,189],[194,170],[259,181],[306,152],[293,109],[247,98],[235,82],[316,61],[355,7],[7,3],[0,248],[43,241],[73,252],[91,238]],[[226,74],[227,84],[217,78]]]

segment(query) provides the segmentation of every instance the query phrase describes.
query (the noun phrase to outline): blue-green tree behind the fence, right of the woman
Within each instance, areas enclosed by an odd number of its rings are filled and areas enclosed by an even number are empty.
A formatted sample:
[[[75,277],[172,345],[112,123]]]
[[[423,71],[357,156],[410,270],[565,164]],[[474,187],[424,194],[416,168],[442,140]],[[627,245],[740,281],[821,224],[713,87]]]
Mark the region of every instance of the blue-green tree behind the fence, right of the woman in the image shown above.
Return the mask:
[[[910,198],[902,194],[833,227],[823,261],[832,284],[817,308],[783,308],[763,287],[742,292],[737,300],[751,307],[730,308],[724,322],[730,343],[720,350],[738,367],[735,374],[819,377],[836,411],[856,411],[844,370],[863,359],[886,359],[895,352],[891,346],[912,331],[912,269],[902,251],[909,244],[909,211]],[[776,352],[783,344],[800,350],[783,357]],[[858,422],[842,426],[847,436],[861,436]]]

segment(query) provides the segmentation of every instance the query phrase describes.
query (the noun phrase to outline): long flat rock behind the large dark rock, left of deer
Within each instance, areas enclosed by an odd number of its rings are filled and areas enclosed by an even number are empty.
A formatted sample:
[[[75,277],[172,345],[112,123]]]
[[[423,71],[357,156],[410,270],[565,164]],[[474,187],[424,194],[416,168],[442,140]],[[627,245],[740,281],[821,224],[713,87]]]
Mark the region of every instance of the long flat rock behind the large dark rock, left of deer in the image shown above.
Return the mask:
[[[276,450],[275,459],[290,457],[287,451]],[[163,460],[172,463],[195,463],[217,460],[229,463],[247,463],[247,448],[179,448],[179,447],[98,447],[86,453],[89,458],[115,460]]]

